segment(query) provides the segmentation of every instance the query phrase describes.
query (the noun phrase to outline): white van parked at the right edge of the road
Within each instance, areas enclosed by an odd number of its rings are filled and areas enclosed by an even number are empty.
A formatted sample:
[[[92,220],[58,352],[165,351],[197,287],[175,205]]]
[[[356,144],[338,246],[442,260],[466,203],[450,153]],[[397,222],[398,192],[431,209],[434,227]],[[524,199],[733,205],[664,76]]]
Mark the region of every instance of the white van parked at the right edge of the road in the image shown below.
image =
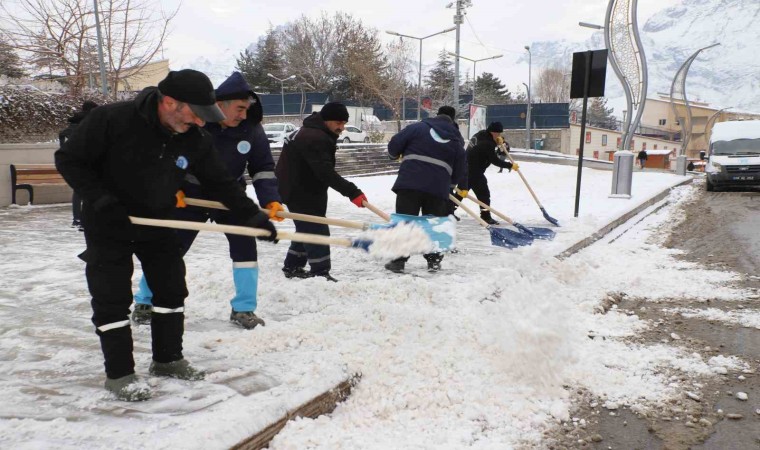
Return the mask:
[[[710,134],[705,173],[707,190],[760,188],[760,120],[716,123]]]

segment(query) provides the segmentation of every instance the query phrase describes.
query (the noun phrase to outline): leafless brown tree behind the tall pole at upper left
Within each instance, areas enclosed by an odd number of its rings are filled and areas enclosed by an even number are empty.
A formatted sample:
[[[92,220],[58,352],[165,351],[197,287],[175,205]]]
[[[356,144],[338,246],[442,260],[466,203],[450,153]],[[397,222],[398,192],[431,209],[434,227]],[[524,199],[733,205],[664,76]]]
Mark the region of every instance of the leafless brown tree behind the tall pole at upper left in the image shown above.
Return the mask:
[[[64,78],[72,92],[81,91],[93,72],[97,48],[92,3],[18,0],[14,5],[1,6],[1,29],[9,45],[37,70]],[[156,56],[177,10],[166,14],[156,0],[107,0],[100,5],[108,83],[114,91],[125,75],[138,73]]]

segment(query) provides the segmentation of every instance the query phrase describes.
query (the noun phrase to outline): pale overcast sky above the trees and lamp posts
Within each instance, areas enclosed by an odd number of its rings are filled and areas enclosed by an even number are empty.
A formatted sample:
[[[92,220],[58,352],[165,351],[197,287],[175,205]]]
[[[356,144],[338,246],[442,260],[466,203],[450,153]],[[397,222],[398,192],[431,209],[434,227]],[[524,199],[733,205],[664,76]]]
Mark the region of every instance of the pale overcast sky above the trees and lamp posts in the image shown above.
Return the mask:
[[[425,36],[453,26],[454,10],[446,8],[449,1],[183,0],[164,56],[169,58],[172,69],[182,68],[198,56],[215,62],[234,62],[234,56],[255,42],[270,24],[279,26],[301,14],[313,17],[321,11],[350,13],[365,25],[380,30],[384,40],[394,39],[385,30]],[[167,8],[172,4],[176,7],[177,0],[162,3]],[[525,54],[525,45],[588,38],[593,30],[579,27],[578,22],[602,24],[607,3],[607,0],[472,0],[461,27],[460,54],[471,59],[503,54],[503,58],[478,63],[477,71],[496,74],[514,90],[528,77],[527,64],[516,62]],[[640,24],[677,3],[680,0],[639,0]],[[414,45],[417,49],[417,41]],[[424,41],[423,74],[444,47],[454,51],[454,32]],[[418,51],[413,54],[416,61]],[[472,63],[461,60],[460,64],[463,77],[465,71],[472,74]],[[534,76],[536,69],[534,66]],[[410,79],[416,77],[415,70]]]

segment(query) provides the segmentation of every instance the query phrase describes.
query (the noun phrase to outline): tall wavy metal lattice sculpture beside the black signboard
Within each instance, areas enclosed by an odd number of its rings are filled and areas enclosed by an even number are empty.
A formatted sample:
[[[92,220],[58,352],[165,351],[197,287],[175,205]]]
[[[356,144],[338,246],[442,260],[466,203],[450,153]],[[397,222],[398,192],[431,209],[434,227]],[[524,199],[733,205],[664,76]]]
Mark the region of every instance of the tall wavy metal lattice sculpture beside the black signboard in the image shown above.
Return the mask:
[[[621,150],[630,148],[647,97],[647,61],[639,38],[637,5],[638,0],[610,0],[604,27],[604,42],[610,50],[610,65],[623,85],[628,107]],[[634,109],[636,116],[631,120]]]

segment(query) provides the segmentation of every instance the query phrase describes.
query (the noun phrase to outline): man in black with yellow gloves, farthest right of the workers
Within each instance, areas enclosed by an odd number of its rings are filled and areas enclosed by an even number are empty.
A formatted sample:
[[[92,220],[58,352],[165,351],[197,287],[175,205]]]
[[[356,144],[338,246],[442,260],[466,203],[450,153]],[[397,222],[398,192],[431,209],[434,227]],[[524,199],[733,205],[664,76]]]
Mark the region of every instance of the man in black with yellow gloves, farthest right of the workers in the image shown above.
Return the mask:
[[[480,130],[470,139],[467,146],[467,179],[470,182],[470,189],[475,196],[486,205],[491,204],[491,191],[488,189],[488,179],[486,178],[486,169],[491,164],[504,169],[517,170],[518,165],[509,161],[499,159],[496,152],[497,140],[502,140],[501,133],[504,127],[501,122],[491,122],[488,128]],[[496,225],[499,222],[491,217],[491,212],[485,208],[480,208],[480,218],[490,225]]]

